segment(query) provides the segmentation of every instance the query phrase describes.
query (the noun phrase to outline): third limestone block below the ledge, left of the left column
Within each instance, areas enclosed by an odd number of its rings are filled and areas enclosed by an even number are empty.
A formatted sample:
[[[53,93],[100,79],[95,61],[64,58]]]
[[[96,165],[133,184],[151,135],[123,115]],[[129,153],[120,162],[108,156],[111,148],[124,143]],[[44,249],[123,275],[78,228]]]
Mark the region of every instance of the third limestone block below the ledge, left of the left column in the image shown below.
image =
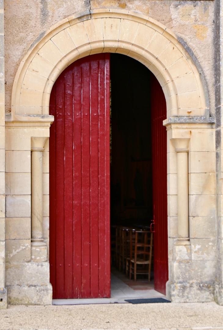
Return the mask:
[[[31,173],[6,173],[7,195],[30,195]]]

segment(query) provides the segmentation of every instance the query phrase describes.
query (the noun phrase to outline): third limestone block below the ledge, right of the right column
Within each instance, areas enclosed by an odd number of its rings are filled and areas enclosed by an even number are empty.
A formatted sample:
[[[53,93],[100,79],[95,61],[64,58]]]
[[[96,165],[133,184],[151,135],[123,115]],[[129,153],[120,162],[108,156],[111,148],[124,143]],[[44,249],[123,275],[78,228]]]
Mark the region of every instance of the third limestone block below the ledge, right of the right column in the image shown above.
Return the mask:
[[[215,178],[214,173],[189,173],[189,194],[214,195]]]

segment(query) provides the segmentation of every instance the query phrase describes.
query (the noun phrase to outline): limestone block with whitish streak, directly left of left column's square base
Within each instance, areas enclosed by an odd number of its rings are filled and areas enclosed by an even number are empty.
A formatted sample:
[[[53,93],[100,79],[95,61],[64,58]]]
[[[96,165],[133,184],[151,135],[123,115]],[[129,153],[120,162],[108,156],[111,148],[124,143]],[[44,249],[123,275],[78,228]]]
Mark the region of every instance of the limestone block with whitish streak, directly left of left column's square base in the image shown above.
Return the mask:
[[[30,261],[31,240],[6,240],[6,262]]]

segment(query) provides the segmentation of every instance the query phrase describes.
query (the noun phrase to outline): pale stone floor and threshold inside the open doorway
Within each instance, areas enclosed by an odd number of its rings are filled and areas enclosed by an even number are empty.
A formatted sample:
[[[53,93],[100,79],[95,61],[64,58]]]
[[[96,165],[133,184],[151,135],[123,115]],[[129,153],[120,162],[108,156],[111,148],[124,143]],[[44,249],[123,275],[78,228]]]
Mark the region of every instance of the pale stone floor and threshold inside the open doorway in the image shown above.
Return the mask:
[[[162,293],[154,290],[154,281],[148,279],[129,280],[123,273],[112,269],[111,298],[90,299],[53,299],[53,305],[81,305],[81,304],[128,304],[126,299],[166,298]]]

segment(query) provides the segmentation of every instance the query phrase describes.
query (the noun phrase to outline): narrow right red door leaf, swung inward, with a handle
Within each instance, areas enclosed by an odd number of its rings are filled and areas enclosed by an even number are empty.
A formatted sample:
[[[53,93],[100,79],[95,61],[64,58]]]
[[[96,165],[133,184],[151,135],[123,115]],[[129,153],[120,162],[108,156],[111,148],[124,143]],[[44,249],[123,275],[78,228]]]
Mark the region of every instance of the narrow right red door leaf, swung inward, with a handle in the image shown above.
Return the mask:
[[[154,212],[154,287],[166,293],[168,281],[167,234],[167,136],[162,121],[166,119],[166,100],[158,80],[152,75],[152,169]]]

